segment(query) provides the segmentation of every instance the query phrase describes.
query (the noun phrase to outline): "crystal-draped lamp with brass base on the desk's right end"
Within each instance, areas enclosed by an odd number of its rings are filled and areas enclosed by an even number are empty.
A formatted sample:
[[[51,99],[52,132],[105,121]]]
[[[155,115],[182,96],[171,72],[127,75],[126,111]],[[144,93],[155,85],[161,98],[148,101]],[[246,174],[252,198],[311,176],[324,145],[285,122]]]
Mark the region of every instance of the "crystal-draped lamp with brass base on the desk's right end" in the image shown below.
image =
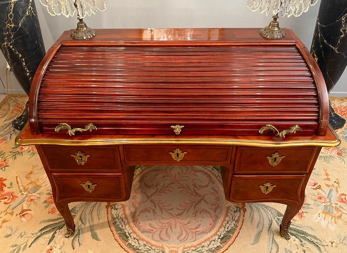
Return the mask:
[[[308,11],[310,6],[317,3],[318,0],[247,0],[247,7],[255,12],[260,11],[261,13],[268,16],[270,12],[271,2],[272,3],[272,14],[273,21],[268,26],[261,29],[259,34],[266,38],[283,38],[286,36],[285,32],[278,25],[278,15],[284,17],[295,16],[298,17],[304,12]]]

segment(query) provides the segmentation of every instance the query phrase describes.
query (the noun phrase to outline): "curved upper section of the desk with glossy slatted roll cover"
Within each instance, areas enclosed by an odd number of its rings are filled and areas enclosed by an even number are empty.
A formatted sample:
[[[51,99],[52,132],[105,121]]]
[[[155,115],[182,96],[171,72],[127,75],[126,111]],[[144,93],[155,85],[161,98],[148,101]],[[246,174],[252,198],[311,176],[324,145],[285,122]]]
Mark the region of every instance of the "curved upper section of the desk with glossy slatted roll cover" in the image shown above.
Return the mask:
[[[33,83],[33,133],[54,133],[64,122],[98,127],[88,134],[173,135],[175,124],[185,126],[181,135],[257,135],[265,124],[325,134],[316,66],[293,36],[269,41],[256,29],[233,28],[148,32],[98,30],[83,42],[64,34]]]

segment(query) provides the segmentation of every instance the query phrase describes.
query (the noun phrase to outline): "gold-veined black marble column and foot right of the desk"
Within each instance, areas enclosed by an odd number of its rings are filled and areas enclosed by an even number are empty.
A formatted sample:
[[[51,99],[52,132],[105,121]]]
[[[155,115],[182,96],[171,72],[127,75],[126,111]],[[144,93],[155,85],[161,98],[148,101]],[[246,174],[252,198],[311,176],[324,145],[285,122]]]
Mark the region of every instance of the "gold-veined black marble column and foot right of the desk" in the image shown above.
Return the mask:
[[[321,1],[311,54],[330,92],[347,66],[347,0]],[[344,85],[347,90],[347,82]],[[329,122],[334,129],[339,129],[346,121],[330,106]]]

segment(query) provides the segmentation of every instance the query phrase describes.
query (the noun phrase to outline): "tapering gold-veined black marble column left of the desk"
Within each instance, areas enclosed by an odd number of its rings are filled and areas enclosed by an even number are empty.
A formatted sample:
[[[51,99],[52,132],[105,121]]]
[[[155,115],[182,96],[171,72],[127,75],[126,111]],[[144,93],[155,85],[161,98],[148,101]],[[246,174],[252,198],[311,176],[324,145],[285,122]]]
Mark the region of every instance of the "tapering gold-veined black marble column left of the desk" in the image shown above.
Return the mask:
[[[45,49],[34,0],[0,1],[0,44],[20,86],[29,94]]]

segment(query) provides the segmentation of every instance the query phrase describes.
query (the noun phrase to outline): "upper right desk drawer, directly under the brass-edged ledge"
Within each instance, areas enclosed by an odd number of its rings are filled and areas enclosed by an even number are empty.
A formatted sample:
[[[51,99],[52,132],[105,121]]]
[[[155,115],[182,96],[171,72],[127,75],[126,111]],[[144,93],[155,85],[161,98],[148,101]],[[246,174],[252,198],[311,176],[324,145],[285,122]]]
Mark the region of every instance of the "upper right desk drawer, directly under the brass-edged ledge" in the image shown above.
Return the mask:
[[[236,173],[307,173],[316,148],[254,148],[238,147]],[[272,164],[271,164],[272,163]]]

